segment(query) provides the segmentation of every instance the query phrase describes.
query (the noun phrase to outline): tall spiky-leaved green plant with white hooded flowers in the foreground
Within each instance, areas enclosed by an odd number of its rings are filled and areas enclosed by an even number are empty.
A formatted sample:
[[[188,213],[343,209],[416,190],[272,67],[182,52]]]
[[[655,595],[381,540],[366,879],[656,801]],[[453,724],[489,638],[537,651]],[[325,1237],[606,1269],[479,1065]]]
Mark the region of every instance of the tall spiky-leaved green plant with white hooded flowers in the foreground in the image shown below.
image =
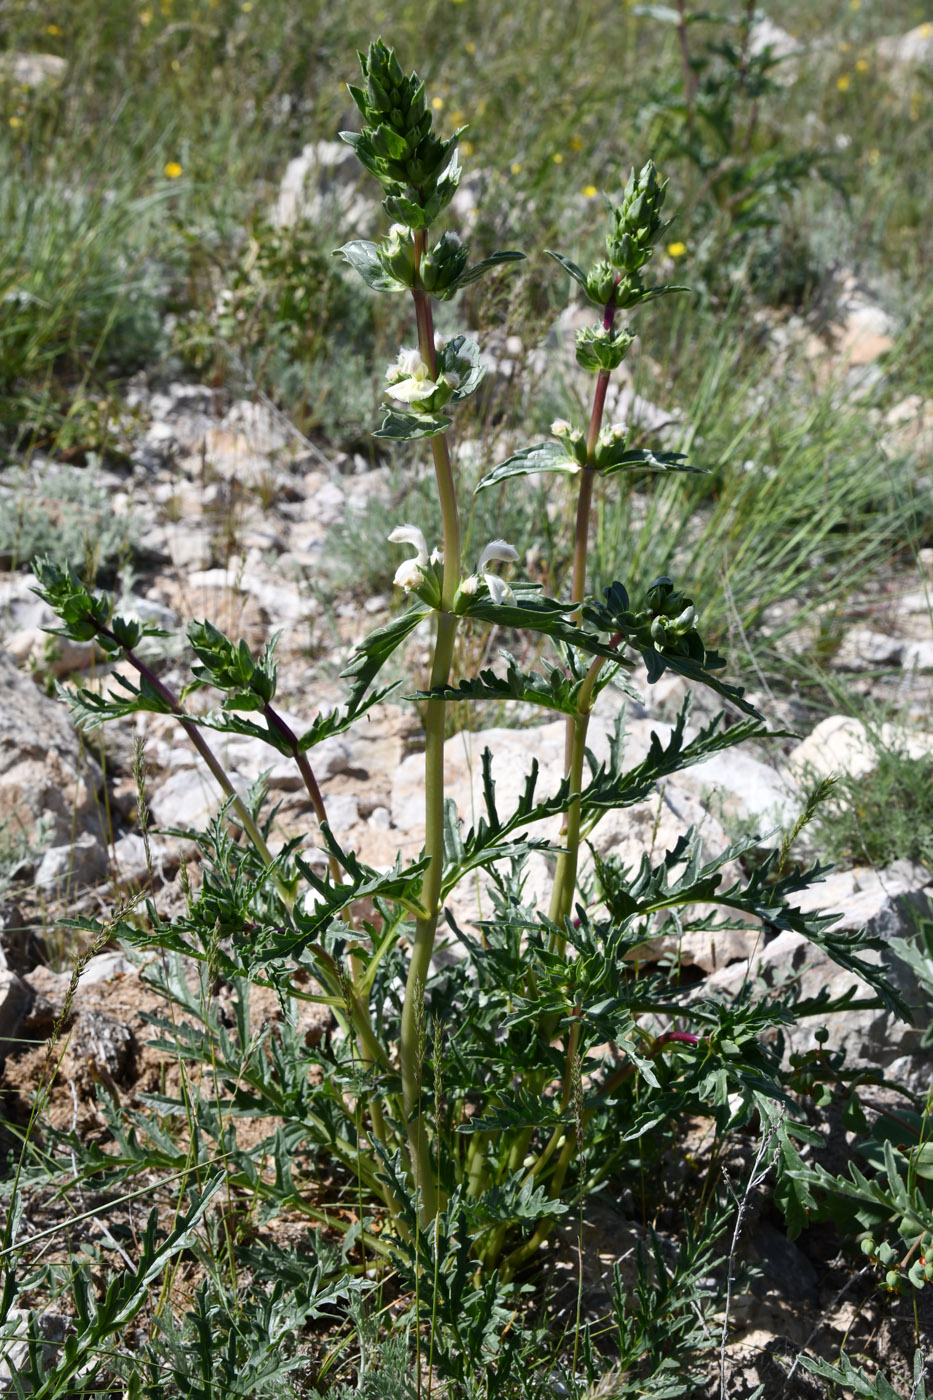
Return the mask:
[[[66,636],[97,640],[108,657],[136,668],[137,682],[120,675],[112,694],[94,690],[73,697],[88,727],[146,711],[174,717],[220,784],[227,805],[212,826],[213,836],[205,837],[214,841],[212,879],[192,900],[185,921],[171,928],[171,946],[207,960],[212,976],[216,970],[238,984],[252,979],[272,984],[283,998],[311,997],[331,1009],[339,1033],[307,1050],[319,1078],[308,1079],[303,1047],[297,1079],[276,1100],[296,1103],[282,1135],[283,1151],[294,1141],[307,1144],[307,1159],[336,1159],[339,1189],[353,1183],[353,1198],[360,1196],[359,1245],[367,1270],[370,1256],[388,1259],[398,1270],[415,1298],[413,1338],[427,1331],[419,1309],[429,1296],[431,1337],[440,1337],[444,1327],[454,1337],[445,1355],[452,1376],[457,1358],[468,1355],[464,1337],[475,1319],[489,1319],[481,1350],[506,1345],[511,1322],[502,1336],[496,1327],[499,1319],[514,1316],[509,1289],[516,1274],[541,1257],[541,1245],[570,1204],[618,1168],[621,1141],[637,1155],[647,1134],[663,1137],[667,1124],[686,1113],[714,1116],[717,1131],[724,1133],[742,1116],[751,1121],[766,1114],[768,1102],[783,1096],[776,1060],[762,1053],[758,1036],[762,1028],[786,1025],[790,1012],[779,1008],[770,1015],[751,995],[724,1009],[709,998],[688,1001],[664,965],[657,963],[650,976],[635,974],[633,958],[640,959],[644,942],[679,938],[689,927],[689,906],[699,906],[699,925],[709,928],[709,909],[717,900],[724,906],[723,927],[730,930],[738,927],[733,921],[748,920],[820,938],[825,920],[817,916],[807,923],[789,903],[789,895],[807,881],[778,868],[773,881],[756,868],[747,888],[731,883],[734,847],[727,853],[728,888],[720,889],[726,857],[710,862],[689,836],[658,853],[660,861],[647,854],[635,874],[601,860],[595,879],[579,875],[584,843],[607,812],[654,801],[679,769],[766,734],[741,689],[719,678],[723,659],[705,645],[692,599],[670,578],[642,589],[637,608],[621,581],[600,598],[587,588],[597,484],[618,489],[635,470],[691,470],[681,454],[632,448],[623,423],[602,421],[611,375],[635,339],[630,328],[616,326],[616,314],[635,312],[674,290],[646,286],[643,277],[664,228],[663,182],[650,164],[632,175],[619,204],[609,203],[605,253],[588,273],[552,255],[600,312],[595,328],[577,339],[579,363],[595,377],[587,427],[555,419],[545,441],[492,466],[476,487],[513,490],[514,477],[532,473],[553,473],[569,487],[574,515],[569,581],[553,589],[558,596],[521,578],[507,582],[496,566],[514,566],[520,556],[500,538],[482,549],[475,570],[464,577],[464,483],[451,461],[448,433],[458,406],[479,389],[483,367],[475,339],[436,333],[434,304],[450,301],[521,255],[493,252],[471,265],[469,248],[457,235],[429,241],[459,181],[459,132],[447,139],[434,133],[423,84],[417,74],[402,71],[385,45],[373,43],[361,63],[363,85],[350,91],[364,127],[346,139],[381,182],[396,227],[382,244],[354,239],[340,255],[374,291],[410,297],[417,342],[399,350],[385,375],[391,402],[374,435],[382,442],[427,444],[443,543],[429,550],[423,528],[409,522],[388,535],[392,545],[408,546],[408,557],[395,570],[403,598],[356,647],[343,672],[346,707],[318,714],[297,732],[272,704],[275,644],[255,659],[247,643],[195,624],[188,637],[198,657],[193,683],[212,686],[221,701],[216,710],[189,714],[188,692],[170,690],[133,650],[158,629],[113,617],[109,602],[71,573],[45,568],[39,578]],[[611,498],[607,508],[612,508]],[[395,861],[380,857],[378,865],[367,864],[361,851],[345,848],[340,833],[332,830],[310,755],[391,697],[395,685],[380,689],[377,680],[417,629],[430,629],[429,678],[423,690],[406,699],[422,706],[423,848],[412,848],[405,832]],[[492,629],[516,654],[503,651],[502,662],[471,666],[476,644],[488,657]],[[468,644],[458,645],[461,640]],[[556,659],[546,658],[548,647]],[[709,724],[688,738],[685,707],[668,738],[651,736],[642,762],[626,769],[622,743],[611,743],[608,756],[597,760],[587,748],[597,696],[637,662],[644,664],[649,682],[674,671],[692,685],[712,687],[745,718],[730,727]],[[532,764],[509,812],[497,805],[496,755],[489,750],[479,760],[479,812],[458,813],[447,791],[445,741],[451,714],[458,713],[451,706],[475,701],[517,703],[523,715],[534,707],[566,721],[563,774],[548,787]],[[317,861],[291,840],[293,833],[282,843],[269,840],[273,818],[263,823],[259,799],[241,794],[224,773],[205,741],[210,728],[262,741],[276,762],[297,764],[318,816]],[[556,843],[553,833],[541,834],[555,816],[563,819]],[[235,840],[228,839],[226,823],[237,827]],[[553,869],[551,899],[541,907],[525,881],[532,855],[546,858]],[[476,882],[472,895],[485,900],[479,932],[469,927],[469,913],[457,914],[458,886],[468,879]],[[464,907],[476,909],[476,899],[464,900]],[[462,958],[436,956],[444,924],[459,938]],[[106,938],[113,931],[84,917],[78,927]],[[119,925],[120,937],[143,948],[157,946],[164,928],[140,931],[136,918]],[[862,977],[880,976],[867,963],[857,966]],[[245,1001],[240,1005],[245,1008]],[[820,1014],[825,1014],[822,1002]],[[702,1023],[702,1036],[658,1033],[658,1018],[689,1019],[698,1029]],[[438,1026],[451,1028],[450,1053]],[[276,1054],[277,1046],[276,1040]],[[231,1109],[238,1112],[235,1100]],[[296,1190],[304,1186],[297,1173],[305,1147],[289,1155],[287,1169],[275,1173],[276,1193],[291,1190],[293,1168]],[[799,1158],[789,1151],[786,1161],[793,1168]],[[258,1168],[242,1179],[259,1190],[263,1176]],[[301,1208],[308,1194],[296,1194]],[[318,1214],[317,1205],[312,1210]],[[441,1250],[447,1250],[443,1260]],[[452,1322],[445,1308],[457,1312]],[[461,1330],[465,1319],[466,1331]],[[493,1348],[492,1355],[500,1352]],[[461,1390],[466,1393],[465,1383]]]

